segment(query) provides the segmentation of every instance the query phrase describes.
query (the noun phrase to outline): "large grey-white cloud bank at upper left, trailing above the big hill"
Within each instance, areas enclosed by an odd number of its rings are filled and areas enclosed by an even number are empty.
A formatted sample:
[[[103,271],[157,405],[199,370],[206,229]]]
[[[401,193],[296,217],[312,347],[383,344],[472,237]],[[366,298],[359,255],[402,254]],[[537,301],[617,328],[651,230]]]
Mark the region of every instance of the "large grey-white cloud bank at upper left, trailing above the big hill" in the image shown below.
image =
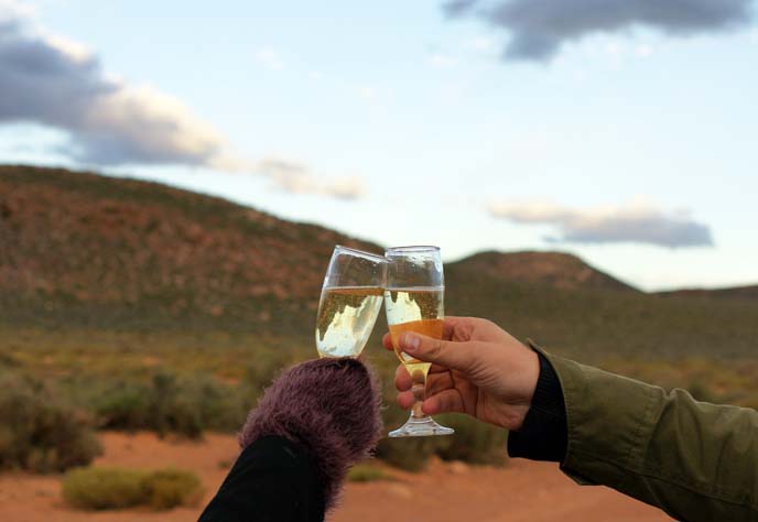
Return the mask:
[[[40,26],[24,6],[0,0],[0,124],[28,122],[65,131],[68,141],[58,152],[86,164],[208,166],[264,175],[296,194],[362,194],[357,181],[323,181],[284,160],[238,157],[181,100],[107,75],[93,51]],[[282,66],[270,50],[258,57],[273,68]]]

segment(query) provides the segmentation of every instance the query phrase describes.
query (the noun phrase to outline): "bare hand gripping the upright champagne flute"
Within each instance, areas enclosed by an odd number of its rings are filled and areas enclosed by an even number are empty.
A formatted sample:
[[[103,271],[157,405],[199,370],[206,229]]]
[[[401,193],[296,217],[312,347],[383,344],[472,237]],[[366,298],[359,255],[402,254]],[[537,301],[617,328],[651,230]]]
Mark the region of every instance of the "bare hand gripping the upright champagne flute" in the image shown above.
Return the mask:
[[[382,339],[392,350],[390,335]],[[446,317],[442,339],[415,333],[399,338],[400,349],[432,362],[422,410],[466,413],[507,429],[519,429],[531,405],[540,376],[538,355],[487,319]],[[394,384],[398,403],[413,406],[411,376],[401,365]]]

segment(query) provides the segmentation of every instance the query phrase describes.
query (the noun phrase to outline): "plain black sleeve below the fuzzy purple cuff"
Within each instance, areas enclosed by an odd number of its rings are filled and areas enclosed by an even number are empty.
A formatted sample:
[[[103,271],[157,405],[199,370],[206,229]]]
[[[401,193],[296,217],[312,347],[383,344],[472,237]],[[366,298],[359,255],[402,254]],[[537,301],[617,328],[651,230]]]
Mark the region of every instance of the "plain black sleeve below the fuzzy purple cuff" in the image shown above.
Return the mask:
[[[322,522],[323,491],[301,446],[266,436],[242,450],[199,522]]]

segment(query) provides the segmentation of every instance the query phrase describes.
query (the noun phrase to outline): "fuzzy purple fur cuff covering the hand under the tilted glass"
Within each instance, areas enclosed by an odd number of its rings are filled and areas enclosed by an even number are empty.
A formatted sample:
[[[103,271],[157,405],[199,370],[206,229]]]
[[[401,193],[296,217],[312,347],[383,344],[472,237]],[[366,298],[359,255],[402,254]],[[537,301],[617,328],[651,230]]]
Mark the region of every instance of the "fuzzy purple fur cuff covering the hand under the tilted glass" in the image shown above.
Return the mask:
[[[266,389],[239,434],[242,448],[266,435],[302,445],[334,507],[350,465],[370,456],[381,436],[377,378],[356,359],[316,359],[285,370]]]

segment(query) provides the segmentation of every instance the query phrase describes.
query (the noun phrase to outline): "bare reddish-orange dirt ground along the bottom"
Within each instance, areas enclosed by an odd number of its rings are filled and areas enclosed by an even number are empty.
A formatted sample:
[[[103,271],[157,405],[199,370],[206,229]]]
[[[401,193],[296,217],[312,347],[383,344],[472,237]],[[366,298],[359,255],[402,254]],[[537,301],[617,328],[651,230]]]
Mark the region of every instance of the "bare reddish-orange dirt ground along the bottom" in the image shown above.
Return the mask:
[[[137,468],[176,466],[197,472],[207,502],[237,455],[231,436],[208,435],[203,443],[160,441],[152,434],[102,435],[106,453],[96,464]],[[661,511],[610,489],[578,487],[551,464],[511,460],[507,468],[434,461],[422,474],[390,471],[394,479],[348,483],[328,522],[592,522],[671,520]],[[126,522],[192,521],[202,511],[128,510],[86,513],[63,503],[59,477],[0,475],[0,521]]]

